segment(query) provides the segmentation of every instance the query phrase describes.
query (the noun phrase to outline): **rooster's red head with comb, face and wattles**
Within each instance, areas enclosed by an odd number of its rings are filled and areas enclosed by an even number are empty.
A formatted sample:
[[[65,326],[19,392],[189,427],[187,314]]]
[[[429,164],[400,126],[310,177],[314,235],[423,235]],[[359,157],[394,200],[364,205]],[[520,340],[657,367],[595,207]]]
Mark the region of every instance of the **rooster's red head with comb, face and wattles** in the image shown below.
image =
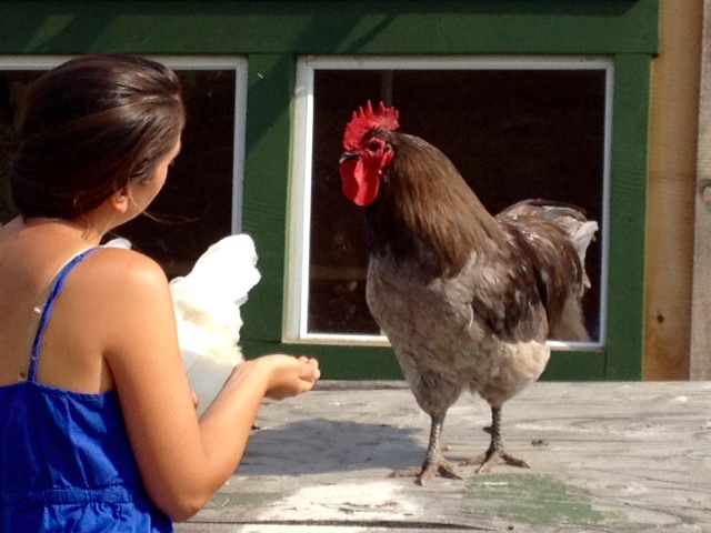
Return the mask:
[[[370,101],[365,109],[354,111],[346,125],[341,180],[343,194],[357,205],[368,205],[375,199],[382,173],[394,155],[392,145],[374,133],[394,131],[399,125],[398,110],[382,102],[373,110]]]

